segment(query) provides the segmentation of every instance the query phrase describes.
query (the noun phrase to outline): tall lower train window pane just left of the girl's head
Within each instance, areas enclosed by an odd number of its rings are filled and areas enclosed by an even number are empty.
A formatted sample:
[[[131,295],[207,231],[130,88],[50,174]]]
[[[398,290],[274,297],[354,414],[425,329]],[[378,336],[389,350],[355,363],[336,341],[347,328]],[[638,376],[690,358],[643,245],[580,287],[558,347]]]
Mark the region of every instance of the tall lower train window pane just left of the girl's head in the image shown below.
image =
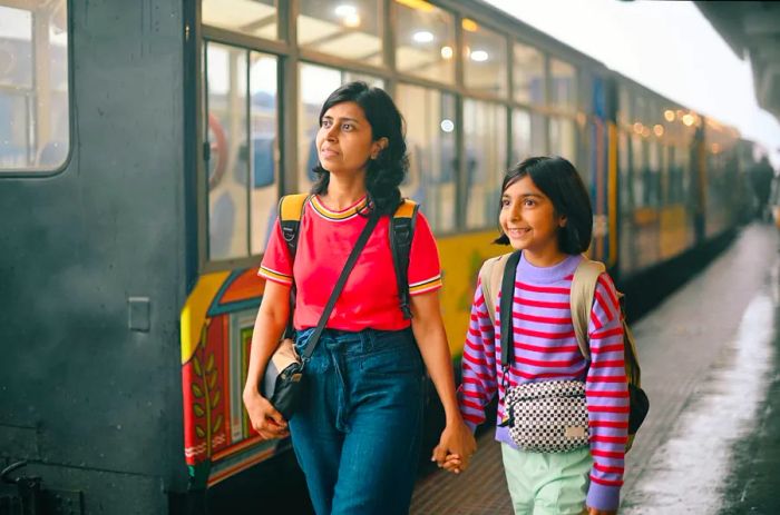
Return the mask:
[[[506,108],[498,103],[464,101],[466,159],[466,227],[495,227],[501,177],[507,168]]]

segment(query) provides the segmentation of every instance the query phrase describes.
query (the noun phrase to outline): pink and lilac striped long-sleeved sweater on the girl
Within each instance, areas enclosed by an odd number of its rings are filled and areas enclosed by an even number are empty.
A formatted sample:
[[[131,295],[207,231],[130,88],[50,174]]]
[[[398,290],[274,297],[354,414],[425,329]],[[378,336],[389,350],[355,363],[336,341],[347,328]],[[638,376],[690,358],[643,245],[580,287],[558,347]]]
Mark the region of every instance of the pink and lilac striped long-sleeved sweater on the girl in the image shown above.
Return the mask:
[[[577,347],[569,310],[572,278],[581,259],[581,256],[569,256],[547,268],[520,259],[513,303],[515,358],[508,384],[585,380],[594,459],[587,504],[616,509],[628,427],[621,310],[612,279],[603,274],[596,285],[588,325],[592,360],[586,362]],[[500,293],[496,295],[500,297]],[[496,392],[498,419],[505,415],[498,298],[495,304],[494,327],[481,285],[478,285],[464,347],[462,384],[458,390],[460,410],[472,428],[485,422],[485,407]],[[497,427],[496,439],[515,447],[507,428]]]

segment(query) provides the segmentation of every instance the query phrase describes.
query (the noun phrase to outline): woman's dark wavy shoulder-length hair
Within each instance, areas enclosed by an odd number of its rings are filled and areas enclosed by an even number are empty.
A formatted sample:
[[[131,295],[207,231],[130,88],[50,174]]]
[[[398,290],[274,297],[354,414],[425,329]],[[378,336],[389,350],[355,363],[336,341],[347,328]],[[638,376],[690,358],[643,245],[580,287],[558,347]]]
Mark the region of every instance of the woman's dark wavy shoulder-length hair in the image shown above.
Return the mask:
[[[388,145],[380,150],[376,159],[369,160],[365,169],[365,189],[368,204],[380,215],[392,215],[401,204],[399,185],[409,170],[407,143],[403,140],[403,117],[390,96],[380,88],[365,82],[349,82],[333,91],[322,105],[320,125],[328,109],[342,102],[355,102],[363,109],[365,119],[371,125],[371,138],[387,138]],[[312,169],[316,181],[313,194],[324,194],[330,184],[330,172],[318,161]]]

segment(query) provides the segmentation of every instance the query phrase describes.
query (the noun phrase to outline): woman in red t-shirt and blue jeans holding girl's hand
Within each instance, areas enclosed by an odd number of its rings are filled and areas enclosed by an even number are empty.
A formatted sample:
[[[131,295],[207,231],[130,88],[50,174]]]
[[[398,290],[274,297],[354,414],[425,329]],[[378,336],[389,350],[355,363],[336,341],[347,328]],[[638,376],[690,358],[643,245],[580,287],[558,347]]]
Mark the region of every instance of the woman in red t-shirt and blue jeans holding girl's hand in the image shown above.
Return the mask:
[[[438,251],[418,214],[409,255],[410,323],[399,306],[388,239],[389,217],[402,201],[407,147],[401,115],[384,91],[351,82],[331,93],[320,112],[316,149],[318,181],[304,205],[294,264],[276,222],[260,268],[266,285],[244,404],[263,437],[286,436],[289,427],[318,514],[406,514],[420,447],[423,363],[447,417],[433,458],[442,463],[448,452],[468,457],[476,449],[458,410],[439,311]],[[371,212],[380,221],[306,364],[303,406],[287,425],[257,385],[286,325],[291,285],[298,290],[300,354]]]

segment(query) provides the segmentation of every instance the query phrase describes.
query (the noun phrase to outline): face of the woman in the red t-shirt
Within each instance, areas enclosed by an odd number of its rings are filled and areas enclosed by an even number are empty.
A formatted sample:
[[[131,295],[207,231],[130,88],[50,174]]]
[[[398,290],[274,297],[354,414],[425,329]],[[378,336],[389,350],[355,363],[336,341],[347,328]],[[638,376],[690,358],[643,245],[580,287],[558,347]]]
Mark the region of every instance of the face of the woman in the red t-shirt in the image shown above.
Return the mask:
[[[341,102],[325,111],[316,133],[316,149],[322,168],[334,175],[365,171],[387,138],[373,140],[371,123],[355,102]]]

